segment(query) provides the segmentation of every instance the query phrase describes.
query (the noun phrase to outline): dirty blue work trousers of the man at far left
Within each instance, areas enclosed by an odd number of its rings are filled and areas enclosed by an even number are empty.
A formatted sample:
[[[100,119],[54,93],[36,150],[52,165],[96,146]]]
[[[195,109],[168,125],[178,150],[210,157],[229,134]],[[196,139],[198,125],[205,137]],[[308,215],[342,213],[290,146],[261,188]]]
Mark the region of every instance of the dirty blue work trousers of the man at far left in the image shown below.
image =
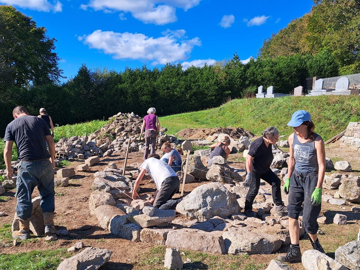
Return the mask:
[[[16,179],[16,214],[26,220],[31,217],[31,194],[37,186],[40,193],[40,207],[42,212],[54,212],[54,169],[49,160],[37,162],[20,161]]]

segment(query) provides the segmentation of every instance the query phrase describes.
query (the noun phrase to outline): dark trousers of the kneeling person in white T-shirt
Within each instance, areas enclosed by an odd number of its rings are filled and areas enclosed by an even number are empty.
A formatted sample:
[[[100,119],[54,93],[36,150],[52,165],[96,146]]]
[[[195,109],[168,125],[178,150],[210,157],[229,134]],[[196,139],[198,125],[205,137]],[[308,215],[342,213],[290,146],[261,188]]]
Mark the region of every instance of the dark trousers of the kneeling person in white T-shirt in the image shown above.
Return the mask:
[[[167,177],[161,184],[155,201],[154,207],[160,209],[175,209],[176,204],[181,201],[181,199],[173,200],[172,196],[179,190],[180,180],[177,176]]]

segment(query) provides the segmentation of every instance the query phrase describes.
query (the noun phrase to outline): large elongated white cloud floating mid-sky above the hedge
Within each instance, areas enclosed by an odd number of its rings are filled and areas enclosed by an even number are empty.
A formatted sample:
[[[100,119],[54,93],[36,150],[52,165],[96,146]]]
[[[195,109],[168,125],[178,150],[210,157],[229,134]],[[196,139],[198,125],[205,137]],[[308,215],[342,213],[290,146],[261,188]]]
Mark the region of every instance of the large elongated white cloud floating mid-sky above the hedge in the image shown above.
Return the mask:
[[[179,39],[171,33],[155,38],[141,33],[96,30],[90,35],[78,37],[78,40],[90,49],[112,55],[114,59],[152,61],[153,65],[186,60],[194,46],[201,46],[198,37]]]

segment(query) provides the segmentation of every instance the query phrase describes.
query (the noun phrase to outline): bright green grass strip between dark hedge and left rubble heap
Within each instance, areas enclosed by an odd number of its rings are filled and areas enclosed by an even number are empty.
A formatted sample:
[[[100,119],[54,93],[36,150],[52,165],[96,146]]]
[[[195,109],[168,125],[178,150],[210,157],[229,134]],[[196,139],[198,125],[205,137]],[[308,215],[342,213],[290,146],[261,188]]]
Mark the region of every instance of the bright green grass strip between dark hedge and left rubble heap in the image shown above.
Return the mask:
[[[90,135],[91,133],[100,129],[107,123],[108,121],[104,120],[93,120],[85,123],[55,127],[54,141],[57,142],[60,140],[60,138]]]

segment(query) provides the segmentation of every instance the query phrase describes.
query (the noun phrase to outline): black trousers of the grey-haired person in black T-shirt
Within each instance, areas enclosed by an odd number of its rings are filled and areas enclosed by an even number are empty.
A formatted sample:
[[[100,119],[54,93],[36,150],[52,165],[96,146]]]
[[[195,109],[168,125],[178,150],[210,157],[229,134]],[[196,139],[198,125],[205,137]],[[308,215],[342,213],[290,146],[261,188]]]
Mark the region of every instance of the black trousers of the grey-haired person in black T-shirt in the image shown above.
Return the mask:
[[[259,192],[260,188],[260,179],[263,179],[271,186],[273,186],[273,201],[276,205],[281,205],[283,203],[281,198],[281,181],[273,171],[270,170],[265,172],[265,174],[259,174],[257,172],[252,172],[252,181],[249,187],[249,191],[246,194],[246,201],[245,201],[245,211],[252,210],[252,204],[254,203],[254,199]]]

